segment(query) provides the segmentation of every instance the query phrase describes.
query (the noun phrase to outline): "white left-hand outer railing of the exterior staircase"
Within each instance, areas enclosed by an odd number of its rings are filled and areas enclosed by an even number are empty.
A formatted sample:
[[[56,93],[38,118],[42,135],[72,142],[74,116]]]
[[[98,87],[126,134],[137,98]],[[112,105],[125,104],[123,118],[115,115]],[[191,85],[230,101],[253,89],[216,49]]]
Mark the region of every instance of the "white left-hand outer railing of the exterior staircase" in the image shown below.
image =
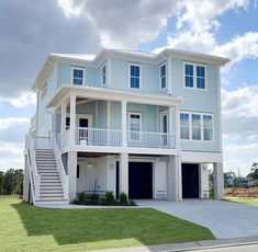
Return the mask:
[[[41,175],[37,173],[36,169],[36,154],[34,147],[34,138],[30,134],[27,136],[27,165],[29,165],[29,174],[32,184],[32,194],[33,201],[40,201],[40,186],[41,186]]]

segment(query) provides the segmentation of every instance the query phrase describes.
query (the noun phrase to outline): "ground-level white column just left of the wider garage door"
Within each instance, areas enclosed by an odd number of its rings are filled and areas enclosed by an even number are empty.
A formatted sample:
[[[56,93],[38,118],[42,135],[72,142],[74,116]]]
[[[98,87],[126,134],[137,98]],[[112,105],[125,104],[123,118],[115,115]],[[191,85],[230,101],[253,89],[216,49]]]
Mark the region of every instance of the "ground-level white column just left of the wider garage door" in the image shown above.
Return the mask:
[[[120,193],[128,195],[128,153],[120,154]]]

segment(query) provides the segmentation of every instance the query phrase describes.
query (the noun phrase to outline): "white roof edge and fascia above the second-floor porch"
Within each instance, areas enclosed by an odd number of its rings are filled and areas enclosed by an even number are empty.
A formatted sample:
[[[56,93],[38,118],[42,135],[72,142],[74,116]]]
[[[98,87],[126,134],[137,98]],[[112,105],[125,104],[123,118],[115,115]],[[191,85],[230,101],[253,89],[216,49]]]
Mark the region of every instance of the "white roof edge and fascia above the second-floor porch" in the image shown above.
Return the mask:
[[[128,103],[175,106],[183,102],[183,98],[154,93],[143,93],[136,91],[114,90],[109,88],[90,88],[63,85],[47,104],[48,108],[57,108],[61,103],[67,101],[69,96],[75,95],[80,100],[105,100],[105,101],[126,101]]]

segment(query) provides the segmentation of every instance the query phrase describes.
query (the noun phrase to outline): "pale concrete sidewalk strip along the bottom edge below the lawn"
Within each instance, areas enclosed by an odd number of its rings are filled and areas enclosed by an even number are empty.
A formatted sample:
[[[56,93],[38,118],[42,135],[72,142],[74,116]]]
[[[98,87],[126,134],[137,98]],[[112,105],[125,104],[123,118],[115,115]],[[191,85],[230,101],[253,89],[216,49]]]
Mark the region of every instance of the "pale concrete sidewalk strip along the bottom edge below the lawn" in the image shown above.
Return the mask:
[[[175,251],[191,251],[191,250],[204,250],[211,248],[225,248],[244,244],[258,244],[258,237],[247,238],[233,238],[233,239],[220,239],[214,241],[195,241],[186,243],[172,243],[161,245],[148,245],[148,247],[131,247],[100,250],[99,252],[175,252]]]

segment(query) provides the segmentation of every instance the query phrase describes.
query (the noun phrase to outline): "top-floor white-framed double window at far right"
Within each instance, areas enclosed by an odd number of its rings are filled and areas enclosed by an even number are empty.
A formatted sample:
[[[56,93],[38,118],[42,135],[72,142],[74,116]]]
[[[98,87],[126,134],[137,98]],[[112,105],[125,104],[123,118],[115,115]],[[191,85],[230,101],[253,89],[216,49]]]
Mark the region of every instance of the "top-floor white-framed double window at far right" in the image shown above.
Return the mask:
[[[184,62],[184,88],[206,89],[206,66],[201,64]]]

